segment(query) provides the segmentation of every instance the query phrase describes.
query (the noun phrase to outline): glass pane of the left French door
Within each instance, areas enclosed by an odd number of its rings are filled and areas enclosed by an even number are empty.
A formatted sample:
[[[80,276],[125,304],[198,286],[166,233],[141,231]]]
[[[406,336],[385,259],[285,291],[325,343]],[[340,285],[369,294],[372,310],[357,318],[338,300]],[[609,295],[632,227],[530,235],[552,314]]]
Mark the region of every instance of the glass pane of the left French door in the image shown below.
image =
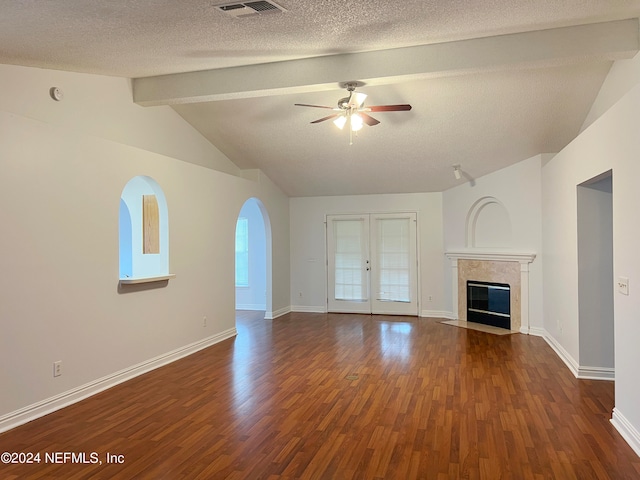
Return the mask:
[[[368,300],[363,265],[364,221],[334,220],[336,300]]]

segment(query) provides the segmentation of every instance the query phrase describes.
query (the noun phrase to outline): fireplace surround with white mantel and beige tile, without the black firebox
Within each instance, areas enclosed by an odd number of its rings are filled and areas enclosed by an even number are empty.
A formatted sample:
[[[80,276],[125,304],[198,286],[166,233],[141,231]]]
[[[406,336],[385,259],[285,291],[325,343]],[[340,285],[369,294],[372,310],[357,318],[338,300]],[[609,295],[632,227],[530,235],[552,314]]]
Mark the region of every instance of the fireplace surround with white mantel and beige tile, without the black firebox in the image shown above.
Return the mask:
[[[529,333],[529,264],[534,253],[466,250],[446,255],[451,260],[454,317],[467,321],[467,280],[507,283],[511,287],[511,331]]]

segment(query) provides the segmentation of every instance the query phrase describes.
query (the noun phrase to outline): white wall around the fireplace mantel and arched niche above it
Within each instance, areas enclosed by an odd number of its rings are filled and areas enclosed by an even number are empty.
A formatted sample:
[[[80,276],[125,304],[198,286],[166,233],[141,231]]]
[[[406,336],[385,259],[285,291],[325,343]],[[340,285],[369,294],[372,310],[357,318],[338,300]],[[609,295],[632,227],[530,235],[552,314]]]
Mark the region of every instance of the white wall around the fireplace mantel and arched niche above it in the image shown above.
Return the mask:
[[[461,185],[442,194],[445,251],[467,248],[467,215],[479,199],[491,196],[504,206],[511,221],[510,249],[536,254],[529,266],[529,325],[534,331],[543,326],[541,160],[536,155],[473,182],[461,180]],[[447,308],[452,309],[451,264],[447,263]]]

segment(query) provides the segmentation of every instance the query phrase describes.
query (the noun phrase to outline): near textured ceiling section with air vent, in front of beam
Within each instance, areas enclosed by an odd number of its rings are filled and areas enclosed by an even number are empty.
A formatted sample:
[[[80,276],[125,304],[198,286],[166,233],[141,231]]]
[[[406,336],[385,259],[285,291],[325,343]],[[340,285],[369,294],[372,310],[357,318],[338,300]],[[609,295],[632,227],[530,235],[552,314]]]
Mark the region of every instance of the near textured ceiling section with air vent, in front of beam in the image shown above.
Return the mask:
[[[233,19],[216,0],[2,0],[0,62],[144,77],[629,18],[629,0],[280,0]]]

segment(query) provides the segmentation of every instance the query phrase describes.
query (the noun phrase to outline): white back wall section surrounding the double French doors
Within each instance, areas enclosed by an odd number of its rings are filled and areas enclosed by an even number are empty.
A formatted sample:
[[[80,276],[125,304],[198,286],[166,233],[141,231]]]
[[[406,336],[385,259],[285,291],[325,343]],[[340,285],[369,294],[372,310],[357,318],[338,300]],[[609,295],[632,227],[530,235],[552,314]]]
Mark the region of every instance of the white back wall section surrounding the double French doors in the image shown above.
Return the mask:
[[[291,305],[294,311],[326,311],[325,215],[413,211],[418,213],[420,314],[451,314],[450,309],[445,310],[442,282],[445,257],[440,193],[291,198],[290,211]]]

